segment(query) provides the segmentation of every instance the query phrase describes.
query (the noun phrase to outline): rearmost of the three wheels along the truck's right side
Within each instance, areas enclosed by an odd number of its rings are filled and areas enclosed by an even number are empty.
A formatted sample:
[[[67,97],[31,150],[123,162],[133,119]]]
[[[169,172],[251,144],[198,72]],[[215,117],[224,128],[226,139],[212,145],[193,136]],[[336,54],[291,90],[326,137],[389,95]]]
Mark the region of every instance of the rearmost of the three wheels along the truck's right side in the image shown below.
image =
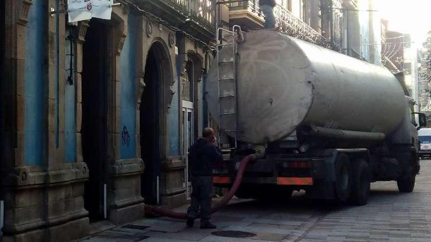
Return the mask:
[[[345,203],[352,191],[352,169],[349,157],[346,154],[338,154],[335,160],[335,198]]]

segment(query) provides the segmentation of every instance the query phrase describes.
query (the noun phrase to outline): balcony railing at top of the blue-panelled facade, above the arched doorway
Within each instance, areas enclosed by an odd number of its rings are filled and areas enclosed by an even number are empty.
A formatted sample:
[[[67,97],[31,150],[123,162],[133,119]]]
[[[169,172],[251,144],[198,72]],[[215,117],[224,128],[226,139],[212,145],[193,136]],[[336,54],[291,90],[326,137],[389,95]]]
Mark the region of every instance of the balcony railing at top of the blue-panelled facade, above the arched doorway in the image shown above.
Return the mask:
[[[163,0],[193,21],[215,31],[216,0]]]

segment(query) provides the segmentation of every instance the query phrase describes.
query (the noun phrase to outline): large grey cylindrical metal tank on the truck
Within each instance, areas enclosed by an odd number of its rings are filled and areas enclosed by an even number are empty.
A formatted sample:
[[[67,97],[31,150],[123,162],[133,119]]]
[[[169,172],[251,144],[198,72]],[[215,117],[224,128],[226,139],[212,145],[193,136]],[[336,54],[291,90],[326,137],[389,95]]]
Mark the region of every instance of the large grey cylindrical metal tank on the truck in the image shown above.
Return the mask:
[[[226,59],[231,51],[224,47],[219,56]],[[403,121],[404,90],[384,67],[273,30],[244,33],[238,53],[238,103],[232,101],[238,121],[220,129],[235,127],[241,141],[279,140],[303,124],[322,133],[342,130],[337,135],[376,133],[379,139]],[[205,98],[212,118],[219,122],[219,95],[225,90],[218,83],[223,77],[217,77],[216,66],[213,63],[210,69]]]

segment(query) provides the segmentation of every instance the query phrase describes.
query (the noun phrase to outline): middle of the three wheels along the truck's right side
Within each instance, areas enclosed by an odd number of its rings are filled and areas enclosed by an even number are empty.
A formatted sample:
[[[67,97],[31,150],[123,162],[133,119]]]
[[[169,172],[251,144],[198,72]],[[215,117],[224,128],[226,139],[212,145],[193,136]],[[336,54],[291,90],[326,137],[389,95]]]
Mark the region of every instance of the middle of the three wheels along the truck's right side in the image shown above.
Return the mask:
[[[358,206],[366,205],[370,197],[370,186],[370,167],[365,160],[359,159],[353,164],[350,203]]]

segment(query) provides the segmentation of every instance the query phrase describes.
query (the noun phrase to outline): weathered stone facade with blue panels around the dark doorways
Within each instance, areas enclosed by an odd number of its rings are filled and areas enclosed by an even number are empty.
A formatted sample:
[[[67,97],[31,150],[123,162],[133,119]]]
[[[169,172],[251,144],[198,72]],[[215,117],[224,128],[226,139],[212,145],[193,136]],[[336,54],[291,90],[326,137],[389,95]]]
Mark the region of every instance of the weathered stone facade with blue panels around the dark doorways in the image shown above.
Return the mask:
[[[70,241],[89,233],[89,213],[84,208],[89,169],[85,163],[88,161],[83,159],[81,130],[83,46],[91,23],[80,21],[69,26],[65,14],[48,14],[51,7],[66,8],[66,2],[4,0],[4,29],[0,28],[2,34],[6,33],[1,43],[4,74],[0,124],[4,138],[0,198],[5,202],[6,242]],[[181,75],[185,62],[193,60],[198,80],[194,102],[197,135],[204,123],[200,80],[209,55],[203,46],[154,19],[131,13],[128,4],[120,2],[121,7],[113,8],[110,21],[108,154],[104,161],[108,176],[107,219],[115,224],[144,217],[139,110],[149,49],[159,46],[157,55],[164,70],[158,112],[159,191],[160,203],[168,207],[187,202],[183,186],[186,154],[182,150],[180,122]],[[179,40],[181,43],[176,44]],[[177,57],[176,45],[180,50]],[[179,71],[177,66],[181,66]],[[68,80],[71,67],[72,80]],[[170,129],[172,126],[175,128]],[[177,149],[171,152],[171,146]]]

